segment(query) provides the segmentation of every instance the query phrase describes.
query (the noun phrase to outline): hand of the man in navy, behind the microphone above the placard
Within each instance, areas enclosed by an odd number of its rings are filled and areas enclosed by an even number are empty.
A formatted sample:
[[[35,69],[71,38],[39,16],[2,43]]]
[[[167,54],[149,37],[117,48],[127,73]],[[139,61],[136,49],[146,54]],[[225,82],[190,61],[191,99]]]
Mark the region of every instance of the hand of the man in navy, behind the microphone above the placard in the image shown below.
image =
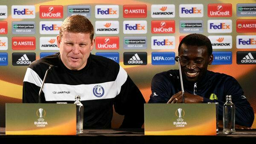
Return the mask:
[[[193,95],[188,92],[184,92],[184,103],[202,103],[204,98],[199,95]],[[175,95],[172,95],[170,100],[167,102],[169,103],[182,103],[182,92],[178,92]]]

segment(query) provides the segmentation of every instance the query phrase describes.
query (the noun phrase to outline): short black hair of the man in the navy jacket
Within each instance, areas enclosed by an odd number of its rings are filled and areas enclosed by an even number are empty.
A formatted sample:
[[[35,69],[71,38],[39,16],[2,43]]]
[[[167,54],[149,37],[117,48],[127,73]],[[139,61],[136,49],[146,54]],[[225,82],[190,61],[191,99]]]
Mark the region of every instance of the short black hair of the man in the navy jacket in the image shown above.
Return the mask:
[[[201,35],[201,34],[187,35],[180,41],[178,53],[180,53],[180,47],[183,43],[186,44],[186,46],[206,46],[208,56],[212,55],[212,43],[209,40],[209,38],[205,35]]]

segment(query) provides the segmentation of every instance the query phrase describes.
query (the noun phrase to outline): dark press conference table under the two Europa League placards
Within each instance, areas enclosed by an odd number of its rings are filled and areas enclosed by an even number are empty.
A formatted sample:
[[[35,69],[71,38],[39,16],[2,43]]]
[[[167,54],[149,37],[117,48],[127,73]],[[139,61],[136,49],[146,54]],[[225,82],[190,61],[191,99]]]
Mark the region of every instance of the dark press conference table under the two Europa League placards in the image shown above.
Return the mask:
[[[255,144],[256,129],[236,130],[232,135],[144,135],[144,129],[84,130],[78,135],[5,135],[0,144]]]

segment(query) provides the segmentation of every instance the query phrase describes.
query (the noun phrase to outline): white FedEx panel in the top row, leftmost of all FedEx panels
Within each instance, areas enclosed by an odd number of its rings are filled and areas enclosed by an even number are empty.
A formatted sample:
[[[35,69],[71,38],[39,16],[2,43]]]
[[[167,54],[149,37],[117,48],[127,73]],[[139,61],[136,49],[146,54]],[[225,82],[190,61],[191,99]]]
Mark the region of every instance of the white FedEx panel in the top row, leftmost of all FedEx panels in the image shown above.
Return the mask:
[[[12,6],[12,18],[35,18],[35,6]]]

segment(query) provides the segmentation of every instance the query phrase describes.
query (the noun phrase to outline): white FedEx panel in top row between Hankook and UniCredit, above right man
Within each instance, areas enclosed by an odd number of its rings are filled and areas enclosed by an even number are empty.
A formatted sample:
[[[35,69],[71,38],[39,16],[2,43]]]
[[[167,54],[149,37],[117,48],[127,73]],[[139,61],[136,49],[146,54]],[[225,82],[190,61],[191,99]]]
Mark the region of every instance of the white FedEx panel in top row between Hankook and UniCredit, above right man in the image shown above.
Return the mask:
[[[180,17],[203,17],[203,4],[180,4]]]

